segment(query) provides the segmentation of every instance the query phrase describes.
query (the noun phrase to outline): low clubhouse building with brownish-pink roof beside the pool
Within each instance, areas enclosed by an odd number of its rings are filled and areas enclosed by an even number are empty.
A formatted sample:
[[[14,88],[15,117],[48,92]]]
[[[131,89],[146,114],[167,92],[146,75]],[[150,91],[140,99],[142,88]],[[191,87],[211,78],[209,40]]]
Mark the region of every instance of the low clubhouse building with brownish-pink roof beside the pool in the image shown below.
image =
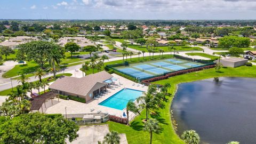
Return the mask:
[[[49,86],[52,92],[83,98],[86,102],[106,92],[107,87],[116,81],[106,71],[85,77],[62,76]]]

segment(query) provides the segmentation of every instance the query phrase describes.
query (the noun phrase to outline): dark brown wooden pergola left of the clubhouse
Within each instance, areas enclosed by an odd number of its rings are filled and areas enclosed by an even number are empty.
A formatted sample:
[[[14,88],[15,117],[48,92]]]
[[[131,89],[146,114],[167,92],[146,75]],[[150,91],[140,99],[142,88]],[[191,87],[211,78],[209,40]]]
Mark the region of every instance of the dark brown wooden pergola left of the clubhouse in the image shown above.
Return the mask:
[[[46,100],[49,100],[55,97],[58,97],[58,101],[59,101],[59,94],[58,93],[55,93],[55,92],[46,92],[44,94],[41,94],[35,98],[33,98],[33,100],[31,100],[31,107],[30,107],[30,110],[39,110],[40,108],[42,109],[42,113],[43,113],[43,103],[44,103],[44,108],[46,108],[46,105],[45,105],[45,101]],[[53,103],[52,103],[53,105]]]

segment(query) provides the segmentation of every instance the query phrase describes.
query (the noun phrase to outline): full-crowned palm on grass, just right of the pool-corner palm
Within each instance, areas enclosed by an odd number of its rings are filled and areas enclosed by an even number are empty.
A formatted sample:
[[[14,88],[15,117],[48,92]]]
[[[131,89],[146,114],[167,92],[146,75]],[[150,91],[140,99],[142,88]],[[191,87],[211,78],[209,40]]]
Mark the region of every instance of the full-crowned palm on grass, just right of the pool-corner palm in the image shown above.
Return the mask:
[[[137,102],[140,103],[139,106],[141,108],[146,109],[146,121],[148,120],[148,111],[151,109],[156,109],[156,105],[154,102],[154,96],[150,93],[144,93],[139,98],[137,98]]]

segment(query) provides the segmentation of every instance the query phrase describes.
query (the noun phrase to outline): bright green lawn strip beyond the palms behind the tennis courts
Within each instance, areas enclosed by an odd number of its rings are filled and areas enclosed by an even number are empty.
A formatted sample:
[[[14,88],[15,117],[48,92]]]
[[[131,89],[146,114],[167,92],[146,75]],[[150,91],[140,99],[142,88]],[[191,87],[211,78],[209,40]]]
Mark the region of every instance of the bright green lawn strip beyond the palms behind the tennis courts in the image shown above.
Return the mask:
[[[129,48],[131,49],[135,49],[135,50],[139,50],[139,51],[145,51],[148,52],[147,47],[144,46],[140,46],[140,45],[135,45],[135,44],[129,44],[128,45]],[[175,51],[203,51],[203,49],[201,49],[200,47],[191,47],[191,46],[174,46],[175,47]],[[154,47],[153,47],[154,49]],[[155,47],[155,50],[158,52],[159,49],[163,49],[164,52],[170,52],[170,51],[174,51],[174,50],[170,50],[171,46],[157,46]]]

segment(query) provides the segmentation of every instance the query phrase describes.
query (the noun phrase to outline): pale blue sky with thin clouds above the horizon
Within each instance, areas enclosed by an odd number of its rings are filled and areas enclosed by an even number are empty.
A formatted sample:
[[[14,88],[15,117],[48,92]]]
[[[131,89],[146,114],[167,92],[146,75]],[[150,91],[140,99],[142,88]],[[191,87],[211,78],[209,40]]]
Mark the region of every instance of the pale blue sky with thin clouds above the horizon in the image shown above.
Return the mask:
[[[256,19],[256,0],[1,0],[0,19]]]

